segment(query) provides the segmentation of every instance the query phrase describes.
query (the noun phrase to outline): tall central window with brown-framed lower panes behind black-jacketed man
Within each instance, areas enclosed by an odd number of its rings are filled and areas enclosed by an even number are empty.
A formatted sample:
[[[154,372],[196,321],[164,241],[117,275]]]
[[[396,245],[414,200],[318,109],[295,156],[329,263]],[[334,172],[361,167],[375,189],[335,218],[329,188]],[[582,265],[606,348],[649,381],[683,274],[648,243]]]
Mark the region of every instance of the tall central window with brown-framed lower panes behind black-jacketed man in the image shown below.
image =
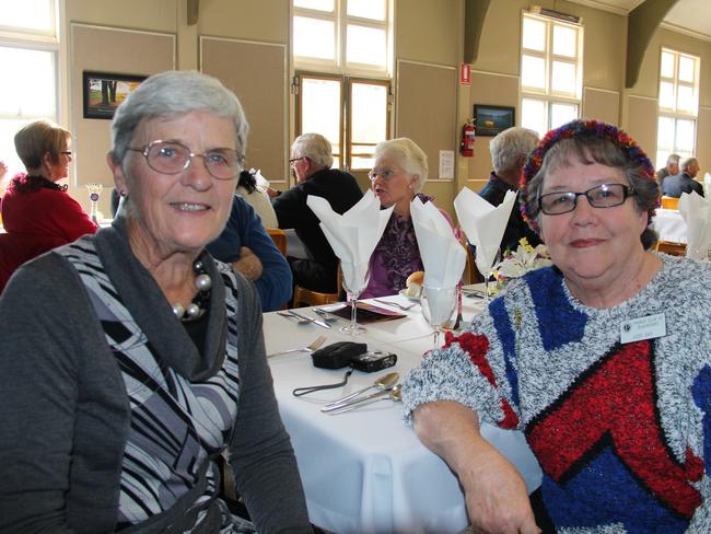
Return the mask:
[[[293,0],[295,134],[325,136],[335,167],[370,169],[387,139],[391,9],[388,0]]]

